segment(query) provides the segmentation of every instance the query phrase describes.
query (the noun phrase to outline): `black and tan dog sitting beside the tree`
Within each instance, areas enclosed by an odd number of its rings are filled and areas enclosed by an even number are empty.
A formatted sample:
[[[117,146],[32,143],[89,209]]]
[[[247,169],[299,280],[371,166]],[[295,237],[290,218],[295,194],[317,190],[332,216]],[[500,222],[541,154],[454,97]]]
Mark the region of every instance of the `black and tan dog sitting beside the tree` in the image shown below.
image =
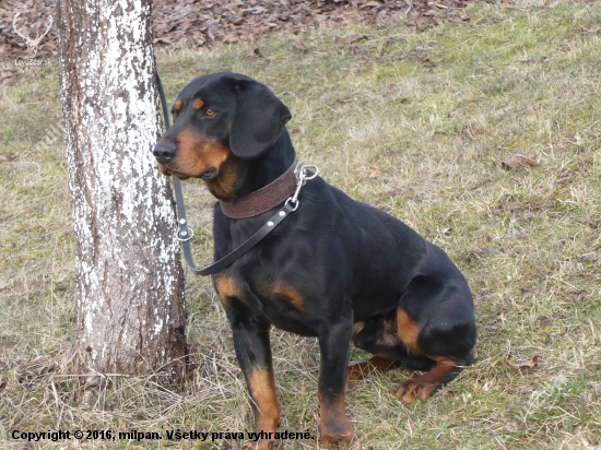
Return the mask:
[[[154,149],[165,175],[201,178],[219,199],[214,257],[259,229],[294,191],[295,151],[286,106],[240,74],[197,78],[178,95],[174,126]],[[284,180],[284,181],[282,181]],[[282,197],[283,196],[283,197]],[[299,208],[248,253],[213,276],[252,399],[256,431],[279,424],[271,325],[319,338],[320,435],[353,436],[346,380],[403,366],[426,371],[403,382],[404,403],[425,400],[473,363],[472,295],[445,251],[397,218],[352,200],[317,177]],[[347,367],[350,342],[375,356]],[[250,442],[269,449],[273,439]]]

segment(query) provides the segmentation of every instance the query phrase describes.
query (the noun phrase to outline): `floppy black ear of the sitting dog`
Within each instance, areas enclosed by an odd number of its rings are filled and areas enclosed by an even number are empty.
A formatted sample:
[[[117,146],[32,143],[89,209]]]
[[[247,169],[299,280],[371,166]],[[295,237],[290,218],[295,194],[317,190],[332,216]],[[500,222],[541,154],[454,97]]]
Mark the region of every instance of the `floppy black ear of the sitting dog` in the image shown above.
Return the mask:
[[[292,118],[290,109],[266,85],[254,80],[224,80],[238,95],[229,131],[229,149],[243,159],[252,159],[267,151],[282,134]]]

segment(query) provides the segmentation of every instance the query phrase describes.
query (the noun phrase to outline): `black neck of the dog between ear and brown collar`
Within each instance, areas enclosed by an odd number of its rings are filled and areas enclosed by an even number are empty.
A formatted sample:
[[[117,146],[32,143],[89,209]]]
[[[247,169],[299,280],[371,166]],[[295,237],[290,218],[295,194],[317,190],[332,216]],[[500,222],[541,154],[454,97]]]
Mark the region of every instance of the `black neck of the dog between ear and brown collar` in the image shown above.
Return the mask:
[[[256,159],[236,158],[237,180],[235,196],[226,201],[235,202],[252,193],[284,174],[296,157],[287,130],[284,128],[275,143]],[[222,200],[223,201],[223,200]]]

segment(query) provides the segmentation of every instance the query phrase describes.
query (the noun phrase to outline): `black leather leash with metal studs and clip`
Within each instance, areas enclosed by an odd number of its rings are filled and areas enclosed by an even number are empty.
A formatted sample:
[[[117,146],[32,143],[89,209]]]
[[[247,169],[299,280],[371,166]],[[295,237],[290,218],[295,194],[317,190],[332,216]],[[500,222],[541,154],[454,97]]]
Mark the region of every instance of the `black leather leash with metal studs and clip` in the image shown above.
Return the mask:
[[[158,88],[158,94],[161,96],[161,105],[163,107],[165,128],[169,129],[170,121],[169,121],[169,114],[167,109],[167,98],[165,96],[165,91],[163,88],[163,83],[161,82],[161,76],[158,75],[158,71],[155,71],[155,75],[156,75],[156,87]],[[311,168],[315,171],[311,174],[307,174],[307,168]],[[195,233],[191,228],[188,227],[188,221],[186,220],[186,206],[184,205],[184,192],[181,190],[181,181],[177,177],[172,177],[173,183],[174,183],[177,217],[178,217],[177,239],[181,242],[181,250],[184,251],[184,258],[186,259],[186,263],[188,264],[190,270],[193,273],[201,276],[207,276],[213,273],[217,273],[219,271],[232,264],[243,254],[248,252],[248,250],[255,247],[261,239],[263,239],[268,234],[270,234],[285,217],[287,217],[288,214],[296,211],[299,204],[298,193],[300,192],[300,188],[305,186],[307,180],[314,179],[315,177],[317,177],[318,169],[316,166],[303,166],[298,163],[295,168],[295,174],[297,178],[296,190],[294,194],[286,200],[286,202],[284,203],[284,206],[282,206],[275,213],[275,215],[273,215],[273,217],[267,221],[264,225],[261,228],[259,228],[257,233],[255,233],[247,240],[245,240],[239,247],[237,247],[231,253],[226,254],[219,261],[214,262],[213,264],[204,269],[197,269],[195,264],[195,260],[192,258],[192,250],[190,248],[190,239],[193,237]]]

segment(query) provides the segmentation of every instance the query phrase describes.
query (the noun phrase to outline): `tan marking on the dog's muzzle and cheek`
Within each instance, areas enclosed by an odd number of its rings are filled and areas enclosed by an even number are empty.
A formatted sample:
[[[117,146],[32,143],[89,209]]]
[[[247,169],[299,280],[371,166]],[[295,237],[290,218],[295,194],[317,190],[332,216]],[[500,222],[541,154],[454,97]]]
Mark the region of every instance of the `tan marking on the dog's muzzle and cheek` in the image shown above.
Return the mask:
[[[225,145],[208,141],[192,130],[184,130],[175,143],[179,147],[179,153],[172,163],[174,170],[196,177],[200,177],[211,167],[216,168],[219,173],[221,165],[232,154]]]

